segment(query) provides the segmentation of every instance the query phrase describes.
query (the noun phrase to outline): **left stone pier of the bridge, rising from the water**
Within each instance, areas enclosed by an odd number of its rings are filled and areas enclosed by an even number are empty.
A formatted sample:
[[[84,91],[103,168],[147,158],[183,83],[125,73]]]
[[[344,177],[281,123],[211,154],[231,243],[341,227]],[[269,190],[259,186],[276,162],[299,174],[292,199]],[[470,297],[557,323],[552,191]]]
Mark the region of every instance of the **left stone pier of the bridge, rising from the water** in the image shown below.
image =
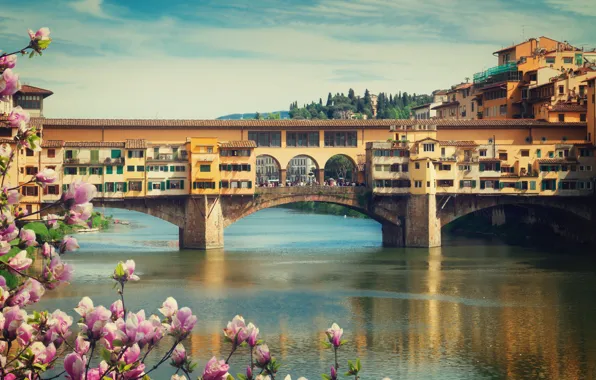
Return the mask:
[[[223,248],[224,218],[219,197],[188,197],[183,224],[179,230],[181,249]]]

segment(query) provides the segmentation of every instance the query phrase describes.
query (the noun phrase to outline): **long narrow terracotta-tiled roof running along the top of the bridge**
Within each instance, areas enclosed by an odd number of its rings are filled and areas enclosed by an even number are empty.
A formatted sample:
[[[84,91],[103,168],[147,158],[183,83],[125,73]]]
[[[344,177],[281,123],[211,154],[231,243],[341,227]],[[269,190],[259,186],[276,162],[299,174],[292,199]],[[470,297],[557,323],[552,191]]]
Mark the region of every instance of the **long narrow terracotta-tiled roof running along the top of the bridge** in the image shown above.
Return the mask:
[[[549,123],[533,119],[424,119],[424,120],[197,120],[197,119],[46,119],[32,118],[31,124],[47,129],[289,129],[371,128],[436,125],[439,128],[586,127],[586,123]]]

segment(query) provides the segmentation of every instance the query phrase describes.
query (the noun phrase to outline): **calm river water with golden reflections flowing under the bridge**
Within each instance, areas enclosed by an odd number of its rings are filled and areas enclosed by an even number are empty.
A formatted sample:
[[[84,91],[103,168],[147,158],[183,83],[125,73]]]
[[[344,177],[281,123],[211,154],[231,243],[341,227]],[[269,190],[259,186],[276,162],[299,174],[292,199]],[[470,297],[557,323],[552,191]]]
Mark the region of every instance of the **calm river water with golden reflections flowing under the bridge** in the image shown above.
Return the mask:
[[[107,306],[117,296],[115,264],[134,259],[141,281],[127,286],[127,306],[156,313],[169,295],[190,306],[199,323],[187,350],[201,370],[211,356],[227,356],[222,328],[242,314],[283,363],[282,378],[328,371],[333,354],[320,342],[332,322],[348,340],[340,369],[359,357],[363,380],[596,378],[589,257],[449,236],[442,248],[384,249],[372,220],[285,209],[226,229],[225,251],[178,251],[177,227],[106,212],[131,224],[79,235],[82,248],[67,256],[72,284],[49,292],[39,308],[74,316],[83,295]],[[241,349],[231,373],[247,361]],[[163,366],[153,378],[171,373]]]

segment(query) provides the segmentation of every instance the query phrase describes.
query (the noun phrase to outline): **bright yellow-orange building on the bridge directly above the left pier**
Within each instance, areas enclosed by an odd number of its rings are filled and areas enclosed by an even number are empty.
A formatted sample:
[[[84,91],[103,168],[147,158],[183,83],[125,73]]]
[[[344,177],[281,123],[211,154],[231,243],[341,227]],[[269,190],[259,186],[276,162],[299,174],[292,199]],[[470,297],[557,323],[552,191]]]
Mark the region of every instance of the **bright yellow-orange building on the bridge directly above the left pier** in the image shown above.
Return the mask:
[[[219,151],[216,137],[192,137],[188,141],[191,194],[219,194]]]

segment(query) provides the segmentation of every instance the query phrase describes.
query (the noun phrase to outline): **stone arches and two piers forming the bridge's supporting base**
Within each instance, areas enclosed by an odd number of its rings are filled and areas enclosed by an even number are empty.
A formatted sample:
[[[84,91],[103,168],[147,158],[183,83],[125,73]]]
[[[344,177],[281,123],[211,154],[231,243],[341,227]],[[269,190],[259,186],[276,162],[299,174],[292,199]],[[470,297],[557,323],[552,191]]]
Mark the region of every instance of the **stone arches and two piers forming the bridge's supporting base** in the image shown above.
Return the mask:
[[[373,196],[365,187],[258,188],[254,196],[157,196],[96,199],[96,206],[139,211],[180,228],[180,247],[211,249],[224,244],[223,230],[256,211],[288,203],[334,203],[362,212],[383,226],[383,245],[435,247],[441,227],[471,212],[503,205],[560,209],[592,222],[594,207],[587,197],[399,195]]]

